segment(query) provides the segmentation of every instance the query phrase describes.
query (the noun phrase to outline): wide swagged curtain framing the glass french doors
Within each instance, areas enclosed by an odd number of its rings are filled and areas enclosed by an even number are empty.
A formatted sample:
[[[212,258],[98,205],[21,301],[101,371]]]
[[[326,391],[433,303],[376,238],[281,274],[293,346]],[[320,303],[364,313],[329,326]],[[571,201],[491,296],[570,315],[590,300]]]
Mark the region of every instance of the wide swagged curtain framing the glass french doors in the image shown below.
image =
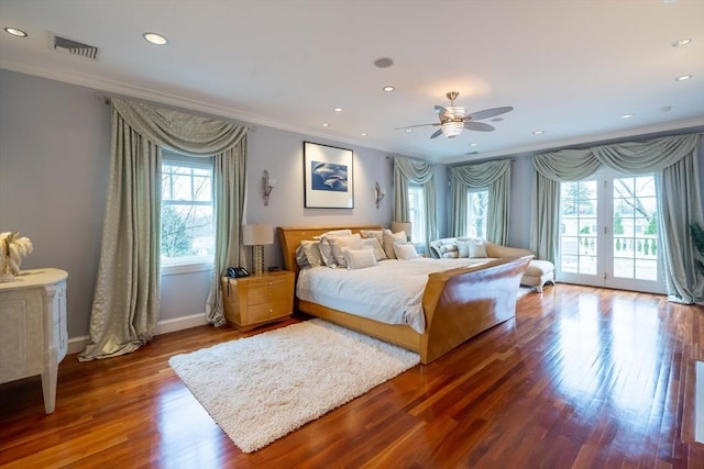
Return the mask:
[[[703,224],[698,141],[700,134],[685,134],[536,155],[530,248],[538,258],[556,260],[559,182],[586,178],[601,165],[629,175],[654,172],[668,295],[672,301],[701,302],[704,277],[694,265],[695,247],[689,232],[690,223]]]

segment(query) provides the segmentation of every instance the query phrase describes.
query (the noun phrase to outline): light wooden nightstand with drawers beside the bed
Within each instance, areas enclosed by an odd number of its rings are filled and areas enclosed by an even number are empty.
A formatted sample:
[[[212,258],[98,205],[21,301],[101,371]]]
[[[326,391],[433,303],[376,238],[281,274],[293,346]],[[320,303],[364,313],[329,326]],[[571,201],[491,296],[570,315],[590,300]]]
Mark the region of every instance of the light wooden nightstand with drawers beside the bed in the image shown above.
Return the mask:
[[[251,277],[221,277],[224,316],[240,331],[282,321],[294,311],[294,272],[279,270]]]

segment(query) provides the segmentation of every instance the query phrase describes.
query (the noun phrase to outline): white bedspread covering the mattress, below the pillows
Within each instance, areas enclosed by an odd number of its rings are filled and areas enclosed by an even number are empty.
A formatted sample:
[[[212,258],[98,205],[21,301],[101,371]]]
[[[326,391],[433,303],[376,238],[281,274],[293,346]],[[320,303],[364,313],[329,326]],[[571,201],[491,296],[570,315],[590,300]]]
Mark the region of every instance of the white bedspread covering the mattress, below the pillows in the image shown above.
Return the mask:
[[[407,324],[419,334],[426,328],[422,293],[428,273],[486,264],[491,259],[382,260],[375,267],[348,270],[312,267],[301,270],[296,295],[338,311],[386,324]]]

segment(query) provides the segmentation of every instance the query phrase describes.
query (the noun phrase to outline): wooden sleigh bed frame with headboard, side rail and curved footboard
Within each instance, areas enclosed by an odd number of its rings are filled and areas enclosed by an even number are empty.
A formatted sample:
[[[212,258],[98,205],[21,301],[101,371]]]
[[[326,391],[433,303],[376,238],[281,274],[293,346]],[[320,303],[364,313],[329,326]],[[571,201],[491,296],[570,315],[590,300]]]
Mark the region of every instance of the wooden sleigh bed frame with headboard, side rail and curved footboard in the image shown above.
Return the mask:
[[[353,233],[380,226],[345,226]],[[296,249],[339,227],[278,227],[287,270],[299,273]],[[520,279],[532,256],[495,259],[430,273],[421,295],[425,327],[386,324],[316,302],[296,299],[296,310],[417,351],[429,364],[469,338],[515,316]]]

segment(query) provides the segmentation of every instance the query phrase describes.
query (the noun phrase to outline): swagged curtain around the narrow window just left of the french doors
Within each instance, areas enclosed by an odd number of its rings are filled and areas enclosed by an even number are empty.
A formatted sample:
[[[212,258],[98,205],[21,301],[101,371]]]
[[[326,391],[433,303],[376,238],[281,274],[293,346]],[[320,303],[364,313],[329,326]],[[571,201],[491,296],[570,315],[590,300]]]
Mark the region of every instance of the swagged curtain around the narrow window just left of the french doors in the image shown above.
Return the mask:
[[[486,238],[508,244],[510,203],[510,160],[481,163],[450,168],[450,233],[465,236],[468,224],[466,193],[488,188]]]

